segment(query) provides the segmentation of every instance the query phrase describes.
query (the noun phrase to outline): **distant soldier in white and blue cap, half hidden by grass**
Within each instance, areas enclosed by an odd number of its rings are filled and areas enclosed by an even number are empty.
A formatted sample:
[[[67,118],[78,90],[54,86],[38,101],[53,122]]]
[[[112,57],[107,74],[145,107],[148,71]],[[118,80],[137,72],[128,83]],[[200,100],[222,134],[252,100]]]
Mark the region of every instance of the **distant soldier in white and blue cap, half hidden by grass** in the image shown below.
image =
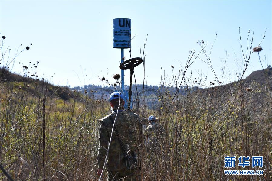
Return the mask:
[[[156,142],[157,148],[159,148],[160,141],[163,139],[165,130],[162,125],[157,123],[157,120],[154,116],[149,116],[148,118],[149,126],[144,130],[145,144],[147,147],[154,148]]]

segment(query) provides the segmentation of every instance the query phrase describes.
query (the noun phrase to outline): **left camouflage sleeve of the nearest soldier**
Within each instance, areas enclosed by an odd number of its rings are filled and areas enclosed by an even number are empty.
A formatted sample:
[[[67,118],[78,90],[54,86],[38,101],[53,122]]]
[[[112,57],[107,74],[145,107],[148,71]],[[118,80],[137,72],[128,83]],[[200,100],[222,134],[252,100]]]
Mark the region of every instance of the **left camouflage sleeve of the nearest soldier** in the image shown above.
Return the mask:
[[[107,148],[109,143],[109,135],[107,132],[107,127],[101,122],[100,125],[100,136],[99,136],[99,147],[98,147],[98,154],[97,154],[97,161],[98,161],[98,169],[102,169],[104,166]]]

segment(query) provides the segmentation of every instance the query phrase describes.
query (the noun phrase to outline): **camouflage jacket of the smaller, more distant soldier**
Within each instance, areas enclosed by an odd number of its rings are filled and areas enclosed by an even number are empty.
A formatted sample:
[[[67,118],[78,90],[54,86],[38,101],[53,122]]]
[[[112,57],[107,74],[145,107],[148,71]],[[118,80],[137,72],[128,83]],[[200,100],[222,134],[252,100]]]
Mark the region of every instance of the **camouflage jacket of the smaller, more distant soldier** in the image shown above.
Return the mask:
[[[158,137],[161,140],[164,137],[165,130],[158,123],[151,123],[144,131],[145,144],[155,144]]]

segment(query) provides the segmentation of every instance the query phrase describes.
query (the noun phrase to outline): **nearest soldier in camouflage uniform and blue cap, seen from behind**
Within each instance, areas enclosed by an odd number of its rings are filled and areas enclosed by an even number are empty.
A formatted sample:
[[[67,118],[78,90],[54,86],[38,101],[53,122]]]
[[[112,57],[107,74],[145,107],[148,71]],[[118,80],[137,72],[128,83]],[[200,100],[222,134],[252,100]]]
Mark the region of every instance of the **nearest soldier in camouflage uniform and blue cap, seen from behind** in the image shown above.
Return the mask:
[[[125,97],[119,92],[113,92],[110,95],[110,105],[113,108],[113,112],[107,115],[100,122],[100,137],[98,148],[98,171],[97,174],[102,174],[102,168],[105,162],[108,144],[112,132],[113,122],[115,120],[115,131],[113,132],[112,142],[109,149],[109,157],[106,160],[105,169],[107,170],[108,181],[112,180],[129,180],[136,181],[138,178],[137,166],[132,169],[127,168],[127,157],[124,151],[133,158],[136,158],[136,140],[137,131],[139,130],[139,116],[133,112],[125,111],[123,108]],[[117,109],[120,107],[117,113]],[[116,117],[117,114],[117,117]],[[119,138],[119,139],[118,139]],[[125,147],[125,148],[124,148]],[[136,160],[136,159],[134,159]]]

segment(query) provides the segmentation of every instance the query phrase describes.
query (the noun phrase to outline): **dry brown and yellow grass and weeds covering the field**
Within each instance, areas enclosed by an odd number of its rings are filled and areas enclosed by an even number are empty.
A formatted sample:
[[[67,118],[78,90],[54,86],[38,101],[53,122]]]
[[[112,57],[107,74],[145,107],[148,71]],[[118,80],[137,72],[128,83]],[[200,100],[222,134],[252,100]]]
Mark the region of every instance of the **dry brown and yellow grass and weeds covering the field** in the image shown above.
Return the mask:
[[[207,44],[200,46],[213,69],[203,51]],[[252,44],[247,48],[249,56]],[[198,57],[192,51],[185,69],[173,73],[172,82],[166,84],[162,73],[158,92],[147,96],[144,86],[138,88],[133,111],[141,118],[156,115],[166,131],[160,152],[146,150],[143,140],[138,140],[142,180],[272,180],[272,70],[261,70],[265,76],[254,81],[242,79],[247,56],[238,81],[229,85],[223,85],[216,74],[213,82],[218,86],[212,82],[207,89],[199,89],[199,81],[186,79],[188,67]],[[98,119],[110,112],[108,97],[4,70],[0,164],[8,174],[14,180],[98,180]],[[156,106],[149,108],[146,102],[154,97]],[[263,156],[264,175],[225,175],[225,156]],[[7,180],[3,173],[0,179]]]

